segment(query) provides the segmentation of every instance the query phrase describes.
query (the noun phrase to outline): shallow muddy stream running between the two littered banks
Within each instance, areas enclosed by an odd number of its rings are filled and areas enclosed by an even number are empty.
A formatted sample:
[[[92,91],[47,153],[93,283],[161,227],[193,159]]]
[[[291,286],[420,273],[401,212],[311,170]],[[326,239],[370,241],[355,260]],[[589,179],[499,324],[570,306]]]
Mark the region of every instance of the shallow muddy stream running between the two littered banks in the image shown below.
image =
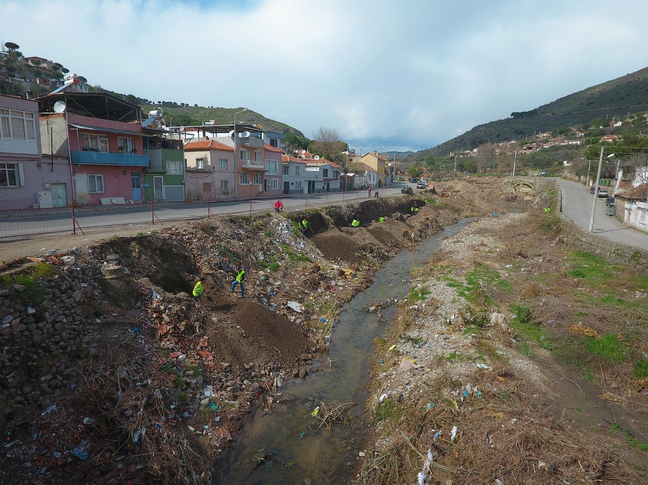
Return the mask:
[[[360,424],[364,411],[367,392],[363,385],[375,350],[373,339],[384,335],[397,310],[395,306],[384,309],[378,321],[376,313],[367,313],[365,308],[405,297],[411,269],[429,260],[443,239],[459,232],[468,221],[427,238],[415,253],[401,251],[375,273],[373,284],[343,307],[329,353],[313,361],[318,372],[284,385],[281,397],[289,398],[289,403],[273,403],[271,413],[262,408],[253,412],[235,446],[216,463],[214,485],[340,485],[351,481],[350,473],[362,451],[362,436],[353,425]],[[330,433],[310,429],[308,424],[316,422],[310,412],[322,399],[358,403],[348,413],[351,426],[334,425]]]

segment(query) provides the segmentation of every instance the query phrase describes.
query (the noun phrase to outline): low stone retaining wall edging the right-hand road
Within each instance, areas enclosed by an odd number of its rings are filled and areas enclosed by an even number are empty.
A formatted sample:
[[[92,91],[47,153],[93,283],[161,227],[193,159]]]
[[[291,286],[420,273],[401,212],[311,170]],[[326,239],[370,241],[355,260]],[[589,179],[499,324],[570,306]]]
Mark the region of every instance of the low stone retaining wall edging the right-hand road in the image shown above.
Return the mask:
[[[560,200],[560,186],[556,184],[557,197]],[[573,221],[559,212],[562,220],[562,232],[568,244],[574,249],[581,249],[588,253],[596,254],[607,260],[627,265],[640,275],[648,272],[648,251],[637,249],[629,245],[610,241],[607,238],[591,234],[581,229]]]

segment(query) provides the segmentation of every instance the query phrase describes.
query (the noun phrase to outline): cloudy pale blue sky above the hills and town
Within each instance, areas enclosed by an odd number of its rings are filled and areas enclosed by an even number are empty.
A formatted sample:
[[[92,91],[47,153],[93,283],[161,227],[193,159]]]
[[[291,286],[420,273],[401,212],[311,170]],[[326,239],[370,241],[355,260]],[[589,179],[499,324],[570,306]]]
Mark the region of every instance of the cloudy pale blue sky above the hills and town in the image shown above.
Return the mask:
[[[645,0],[1,0],[90,84],[423,150],[648,66]]]

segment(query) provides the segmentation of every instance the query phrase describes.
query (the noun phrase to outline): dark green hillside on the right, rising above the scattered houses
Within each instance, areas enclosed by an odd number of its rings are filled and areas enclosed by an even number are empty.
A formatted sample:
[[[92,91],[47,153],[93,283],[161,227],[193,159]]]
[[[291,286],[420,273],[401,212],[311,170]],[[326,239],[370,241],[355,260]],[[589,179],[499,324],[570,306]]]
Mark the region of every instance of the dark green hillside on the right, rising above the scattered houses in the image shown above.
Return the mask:
[[[435,148],[417,152],[418,157],[447,156],[454,150],[476,148],[485,142],[531,138],[537,131],[579,126],[594,118],[619,118],[648,110],[648,67],[620,78],[564,96],[515,117],[480,124]]]

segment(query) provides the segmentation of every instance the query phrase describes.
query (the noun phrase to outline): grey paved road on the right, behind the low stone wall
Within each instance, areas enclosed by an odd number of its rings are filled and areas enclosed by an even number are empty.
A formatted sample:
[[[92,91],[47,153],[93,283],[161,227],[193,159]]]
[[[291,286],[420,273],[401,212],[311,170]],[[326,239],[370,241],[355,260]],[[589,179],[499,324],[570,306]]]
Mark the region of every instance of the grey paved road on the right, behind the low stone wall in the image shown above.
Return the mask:
[[[562,192],[562,213],[578,227],[590,230],[592,198],[590,188],[571,180],[557,179]],[[623,225],[616,217],[606,215],[605,198],[596,197],[594,234],[611,241],[627,244],[648,251],[648,234]],[[618,207],[617,210],[623,210]]]

